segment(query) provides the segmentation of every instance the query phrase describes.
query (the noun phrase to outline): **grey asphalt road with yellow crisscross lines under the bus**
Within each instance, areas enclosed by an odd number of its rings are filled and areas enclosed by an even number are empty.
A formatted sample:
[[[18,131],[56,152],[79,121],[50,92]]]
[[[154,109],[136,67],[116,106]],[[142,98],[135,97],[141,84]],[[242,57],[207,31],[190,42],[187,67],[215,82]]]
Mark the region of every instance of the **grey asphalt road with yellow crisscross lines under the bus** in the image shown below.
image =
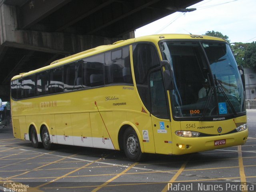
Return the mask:
[[[56,145],[35,149],[0,129],[0,191],[256,191],[256,110],[245,145],[130,162],[115,150]]]

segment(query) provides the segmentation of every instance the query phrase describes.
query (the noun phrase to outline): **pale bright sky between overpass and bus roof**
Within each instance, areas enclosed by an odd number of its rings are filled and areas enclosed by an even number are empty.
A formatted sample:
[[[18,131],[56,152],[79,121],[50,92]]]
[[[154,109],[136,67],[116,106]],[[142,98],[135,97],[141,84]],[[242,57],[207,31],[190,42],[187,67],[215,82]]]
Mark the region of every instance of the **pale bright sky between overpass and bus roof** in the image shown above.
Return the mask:
[[[152,34],[205,34],[214,30],[228,36],[231,43],[256,42],[256,0],[203,0],[135,30],[135,37]]]

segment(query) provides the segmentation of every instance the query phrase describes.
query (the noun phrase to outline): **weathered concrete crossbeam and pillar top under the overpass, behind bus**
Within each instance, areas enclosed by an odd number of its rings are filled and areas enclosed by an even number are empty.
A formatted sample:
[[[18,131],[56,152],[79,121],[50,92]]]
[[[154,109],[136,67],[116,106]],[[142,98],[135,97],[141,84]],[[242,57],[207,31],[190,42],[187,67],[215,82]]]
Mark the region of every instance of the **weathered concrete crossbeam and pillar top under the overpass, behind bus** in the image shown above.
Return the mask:
[[[17,30],[16,8],[6,4],[0,6],[1,46],[69,55],[120,40],[94,35]]]

